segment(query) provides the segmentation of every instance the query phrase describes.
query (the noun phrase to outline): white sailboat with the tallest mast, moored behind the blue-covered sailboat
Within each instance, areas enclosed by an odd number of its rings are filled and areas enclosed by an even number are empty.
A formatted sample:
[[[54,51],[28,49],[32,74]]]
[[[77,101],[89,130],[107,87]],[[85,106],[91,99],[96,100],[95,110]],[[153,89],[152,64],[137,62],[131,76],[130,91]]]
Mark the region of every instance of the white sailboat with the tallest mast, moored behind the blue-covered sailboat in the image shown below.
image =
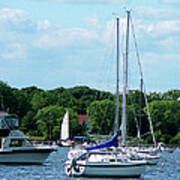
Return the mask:
[[[141,149],[139,147],[135,147],[135,148],[127,148],[126,147],[126,134],[127,134],[127,129],[126,129],[126,121],[127,121],[127,117],[126,117],[126,96],[128,93],[128,51],[129,51],[129,23],[130,23],[130,11],[127,11],[127,30],[126,30],[126,53],[123,54],[123,100],[122,100],[122,118],[121,118],[121,150],[125,151],[126,153],[130,153],[131,154],[131,159],[134,160],[141,160],[144,159],[147,161],[148,165],[156,165],[157,162],[160,159],[160,155],[156,154],[157,152],[157,148],[156,148],[156,139],[154,136],[154,131],[153,131],[153,126],[152,126],[152,121],[151,121],[151,116],[150,116],[150,112],[149,112],[149,105],[147,102],[147,97],[146,97],[146,93],[145,94],[145,104],[147,107],[147,113],[148,113],[148,121],[149,121],[149,125],[150,125],[150,131],[152,134],[152,139],[153,139],[153,143],[155,148],[146,148],[146,149]],[[133,26],[132,26],[133,28]],[[134,29],[133,29],[134,30]],[[135,40],[135,34],[133,34],[134,40]],[[137,43],[135,40],[135,47],[137,48]],[[137,49],[136,49],[137,50]],[[140,68],[140,75],[141,75],[141,91],[143,89],[143,73],[142,73],[142,68],[141,68],[141,63],[140,63],[140,59],[139,59],[139,54],[138,52],[136,52],[137,58],[138,58],[138,64],[139,64],[139,68]],[[117,88],[118,89],[118,88]],[[137,128],[138,131],[138,136],[140,136],[140,129]],[[122,148],[124,147],[124,148]],[[146,153],[144,153],[146,152]]]

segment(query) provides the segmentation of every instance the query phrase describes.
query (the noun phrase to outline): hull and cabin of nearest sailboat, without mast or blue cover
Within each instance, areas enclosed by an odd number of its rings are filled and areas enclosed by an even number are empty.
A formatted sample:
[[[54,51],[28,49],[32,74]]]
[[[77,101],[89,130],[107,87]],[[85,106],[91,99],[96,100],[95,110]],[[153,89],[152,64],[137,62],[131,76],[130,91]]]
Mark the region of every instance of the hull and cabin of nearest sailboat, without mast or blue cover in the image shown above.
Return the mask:
[[[65,172],[68,176],[139,178],[146,163],[145,160],[130,160],[119,153],[92,151],[66,161]]]

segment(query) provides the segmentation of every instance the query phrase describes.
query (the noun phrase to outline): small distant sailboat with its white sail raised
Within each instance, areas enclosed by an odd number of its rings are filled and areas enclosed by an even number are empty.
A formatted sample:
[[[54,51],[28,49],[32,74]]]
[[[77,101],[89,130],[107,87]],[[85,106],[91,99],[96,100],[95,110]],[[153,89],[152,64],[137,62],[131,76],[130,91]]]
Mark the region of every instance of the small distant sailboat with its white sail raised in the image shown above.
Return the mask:
[[[69,111],[66,110],[63,121],[61,123],[60,145],[63,147],[71,146],[72,141],[69,138]]]

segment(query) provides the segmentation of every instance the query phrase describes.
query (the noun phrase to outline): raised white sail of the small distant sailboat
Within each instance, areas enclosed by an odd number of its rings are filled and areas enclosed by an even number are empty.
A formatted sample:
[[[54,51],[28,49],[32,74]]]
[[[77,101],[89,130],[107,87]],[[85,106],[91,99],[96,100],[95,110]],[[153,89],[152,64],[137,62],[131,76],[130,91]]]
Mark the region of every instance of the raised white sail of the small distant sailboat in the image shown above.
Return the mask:
[[[61,124],[61,140],[69,139],[69,112],[66,111]]]

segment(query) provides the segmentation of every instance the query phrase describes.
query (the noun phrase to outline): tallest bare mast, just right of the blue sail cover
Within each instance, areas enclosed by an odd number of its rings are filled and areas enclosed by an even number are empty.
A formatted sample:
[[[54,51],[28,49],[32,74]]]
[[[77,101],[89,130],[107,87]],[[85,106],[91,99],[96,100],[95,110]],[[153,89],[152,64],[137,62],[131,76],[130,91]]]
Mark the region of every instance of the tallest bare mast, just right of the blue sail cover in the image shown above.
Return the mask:
[[[123,57],[123,104],[122,104],[122,146],[126,145],[126,94],[128,86],[128,51],[129,51],[129,19],[130,11],[127,11],[127,29],[126,29],[126,53]]]

